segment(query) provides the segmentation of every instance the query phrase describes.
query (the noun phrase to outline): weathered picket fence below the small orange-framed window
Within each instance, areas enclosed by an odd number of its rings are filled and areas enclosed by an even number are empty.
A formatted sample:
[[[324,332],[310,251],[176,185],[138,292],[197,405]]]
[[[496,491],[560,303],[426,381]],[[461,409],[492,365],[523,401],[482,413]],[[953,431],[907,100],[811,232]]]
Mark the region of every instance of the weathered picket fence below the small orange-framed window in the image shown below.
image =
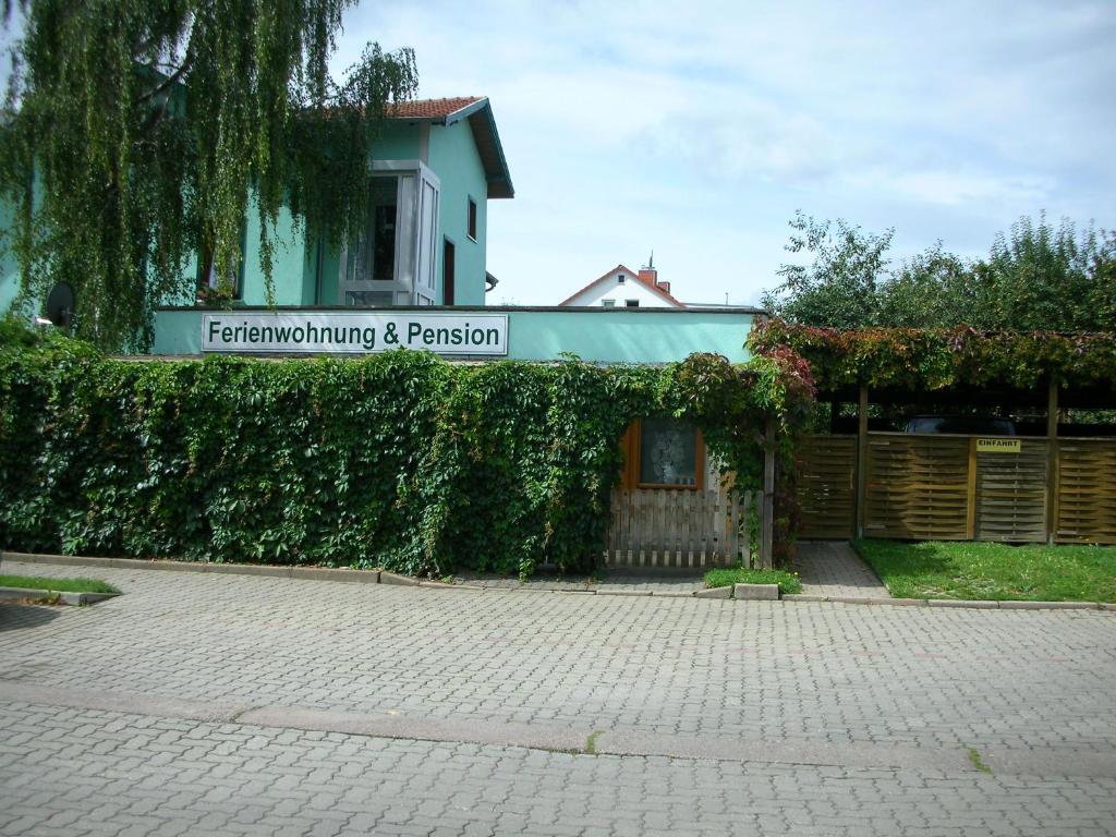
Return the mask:
[[[709,568],[749,564],[747,516],[753,493],[613,490],[606,564],[616,568]]]

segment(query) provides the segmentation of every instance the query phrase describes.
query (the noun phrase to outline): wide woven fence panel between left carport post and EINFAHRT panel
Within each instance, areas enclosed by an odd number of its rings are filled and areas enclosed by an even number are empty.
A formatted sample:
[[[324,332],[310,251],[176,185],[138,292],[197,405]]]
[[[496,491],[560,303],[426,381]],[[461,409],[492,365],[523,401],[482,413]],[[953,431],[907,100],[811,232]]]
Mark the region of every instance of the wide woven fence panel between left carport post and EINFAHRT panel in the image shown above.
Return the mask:
[[[866,537],[970,537],[966,437],[869,433],[867,460]]]

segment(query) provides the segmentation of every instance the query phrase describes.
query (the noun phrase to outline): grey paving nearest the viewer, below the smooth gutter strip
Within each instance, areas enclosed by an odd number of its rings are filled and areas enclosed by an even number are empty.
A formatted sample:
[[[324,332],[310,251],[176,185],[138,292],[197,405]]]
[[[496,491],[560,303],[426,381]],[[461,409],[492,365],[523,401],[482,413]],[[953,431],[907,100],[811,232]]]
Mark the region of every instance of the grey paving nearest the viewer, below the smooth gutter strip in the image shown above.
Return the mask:
[[[4,835],[1107,834],[1113,779],[571,756],[0,705]]]

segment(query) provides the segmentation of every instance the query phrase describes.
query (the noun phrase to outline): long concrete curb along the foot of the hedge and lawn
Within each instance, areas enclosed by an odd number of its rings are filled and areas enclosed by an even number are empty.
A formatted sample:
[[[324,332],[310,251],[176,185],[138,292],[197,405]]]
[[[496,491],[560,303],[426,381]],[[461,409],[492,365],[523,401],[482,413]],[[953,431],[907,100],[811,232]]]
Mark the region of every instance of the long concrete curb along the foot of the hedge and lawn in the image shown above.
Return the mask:
[[[171,573],[225,573],[242,576],[267,576],[308,581],[349,581],[356,584],[387,584],[402,587],[429,587],[444,590],[472,590],[473,593],[560,593],[589,596],[653,596],[655,598],[703,598],[751,603],[789,602],[792,604],[827,603],[837,605],[892,605],[895,607],[952,607],[982,610],[1103,610],[1116,613],[1116,603],[1104,602],[991,602],[964,599],[884,598],[882,596],[818,596],[807,593],[779,595],[778,585],[734,585],[733,587],[705,587],[690,593],[654,590],[606,590],[567,587],[538,589],[531,587],[485,587],[479,584],[443,584],[424,581],[411,576],[388,573],[386,569],[330,569],[328,567],[271,567],[258,564],[200,564],[195,561],[144,560],[141,558],[93,558],[76,555],[47,555],[39,552],[8,552],[0,550],[0,561],[21,564],[54,564],[68,567],[108,567],[112,569],[156,569]],[[740,595],[738,588],[749,588]],[[751,588],[764,588],[762,596],[748,595]],[[775,590],[771,595],[770,589]],[[118,594],[73,594],[112,597]],[[65,600],[65,599],[64,599]],[[100,599],[88,599],[88,603]]]

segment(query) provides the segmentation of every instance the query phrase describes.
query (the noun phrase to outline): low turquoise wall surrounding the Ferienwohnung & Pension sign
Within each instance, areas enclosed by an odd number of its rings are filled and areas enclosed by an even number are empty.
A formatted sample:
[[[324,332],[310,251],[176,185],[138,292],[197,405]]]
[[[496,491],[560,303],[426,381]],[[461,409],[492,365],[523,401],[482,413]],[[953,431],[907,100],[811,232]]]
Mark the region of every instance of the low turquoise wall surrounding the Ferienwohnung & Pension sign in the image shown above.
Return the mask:
[[[166,309],[155,315],[156,355],[201,354],[201,308]],[[268,310],[254,308],[253,310]],[[306,308],[307,311],[328,310]],[[352,308],[333,308],[352,311]],[[400,310],[400,309],[396,309]],[[412,308],[416,312],[446,310]],[[473,308],[508,315],[508,357],[554,360],[570,352],[594,363],[672,363],[695,352],[713,352],[733,363],[749,358],[744,339],[751,309],[679,310],[623,308]]]

